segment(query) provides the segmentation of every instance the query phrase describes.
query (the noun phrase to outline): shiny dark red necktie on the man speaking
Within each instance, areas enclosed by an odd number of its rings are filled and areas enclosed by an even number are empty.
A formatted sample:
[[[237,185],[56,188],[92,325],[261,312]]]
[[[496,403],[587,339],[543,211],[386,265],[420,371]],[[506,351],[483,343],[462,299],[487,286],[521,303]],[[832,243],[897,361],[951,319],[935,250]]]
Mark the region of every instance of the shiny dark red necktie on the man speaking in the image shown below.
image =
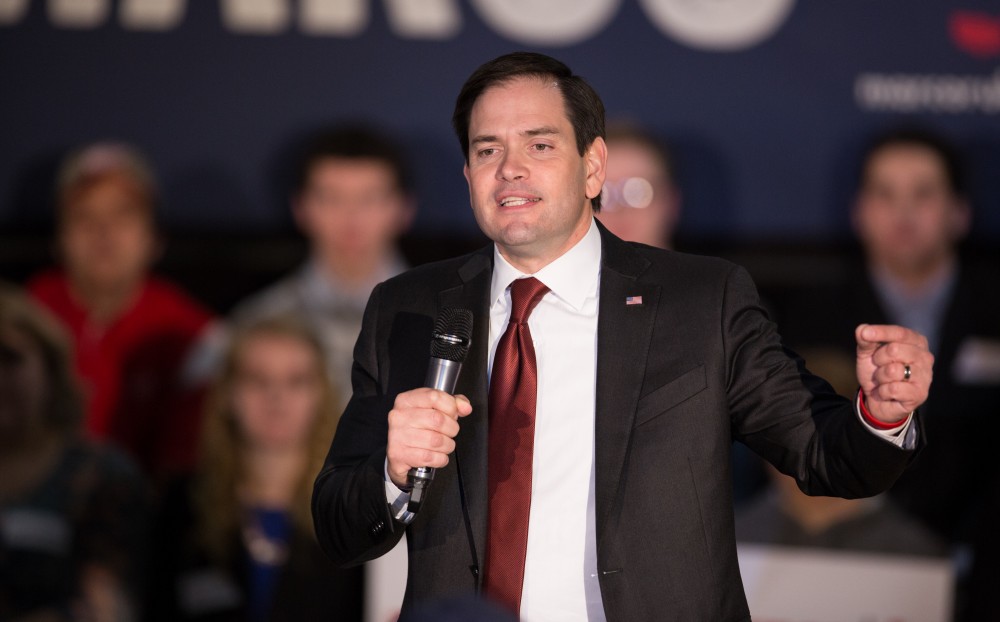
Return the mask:
[[[495,601],[521,607],[531,507],[538,369],[528,316],[549,288],[535,278],[510,285],[510,320],[493,356],[489,401],[489,541],[484,588]]]

